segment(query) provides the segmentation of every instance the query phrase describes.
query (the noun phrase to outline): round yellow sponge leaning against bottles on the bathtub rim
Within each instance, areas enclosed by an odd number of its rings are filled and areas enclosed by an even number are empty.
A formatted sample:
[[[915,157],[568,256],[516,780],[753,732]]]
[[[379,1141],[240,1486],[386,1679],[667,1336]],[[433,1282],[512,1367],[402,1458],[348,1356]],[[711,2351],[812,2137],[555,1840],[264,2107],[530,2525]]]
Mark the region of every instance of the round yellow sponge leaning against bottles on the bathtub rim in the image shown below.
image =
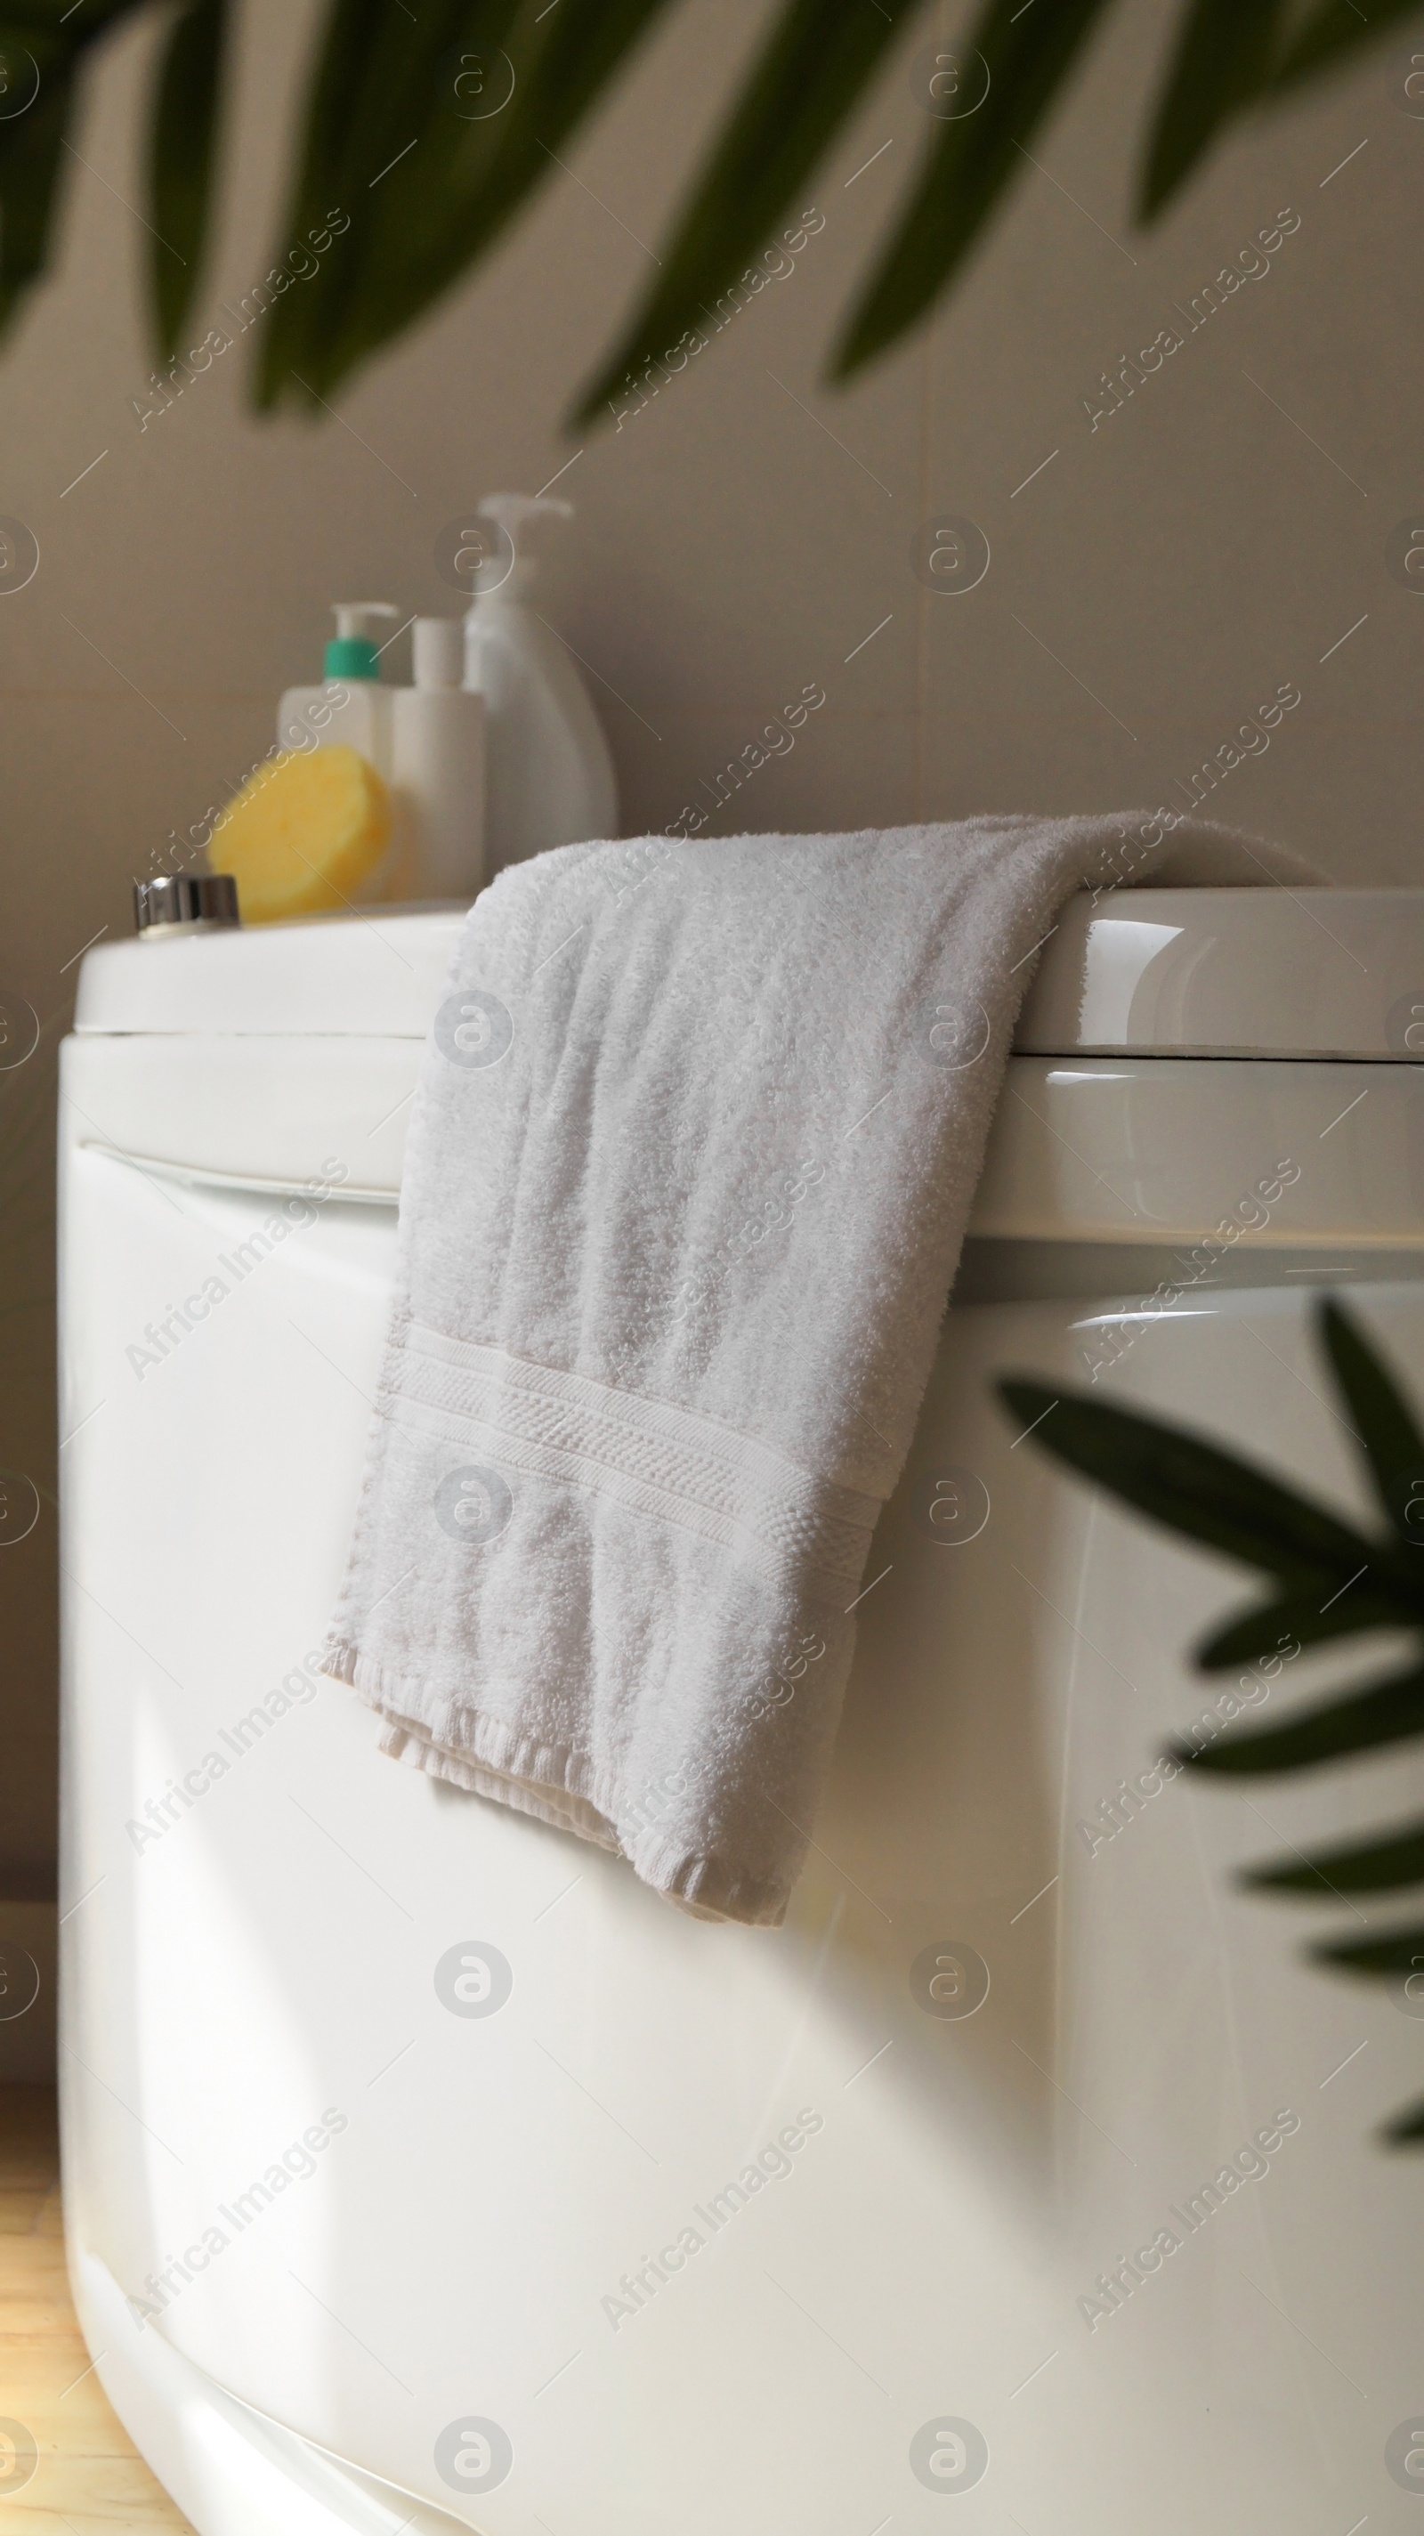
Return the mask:
[[[213,827],[208,862],[238,883],[248,926],[347,905],[390,842],[390,799],[355,748],[258,766]]]

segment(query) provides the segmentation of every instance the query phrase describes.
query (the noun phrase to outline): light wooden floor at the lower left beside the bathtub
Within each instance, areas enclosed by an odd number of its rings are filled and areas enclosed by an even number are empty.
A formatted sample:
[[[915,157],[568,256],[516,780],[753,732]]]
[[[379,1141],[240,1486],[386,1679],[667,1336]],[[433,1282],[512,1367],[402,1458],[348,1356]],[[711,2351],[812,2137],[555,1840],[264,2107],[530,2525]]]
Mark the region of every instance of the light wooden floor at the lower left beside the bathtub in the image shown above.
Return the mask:
[[[104,2402],[68,2303],[51,2087],[0,2087],[0,2536],[188,2528]],[[15,2422],[38,2450],[23,2488],[5,2478]]]

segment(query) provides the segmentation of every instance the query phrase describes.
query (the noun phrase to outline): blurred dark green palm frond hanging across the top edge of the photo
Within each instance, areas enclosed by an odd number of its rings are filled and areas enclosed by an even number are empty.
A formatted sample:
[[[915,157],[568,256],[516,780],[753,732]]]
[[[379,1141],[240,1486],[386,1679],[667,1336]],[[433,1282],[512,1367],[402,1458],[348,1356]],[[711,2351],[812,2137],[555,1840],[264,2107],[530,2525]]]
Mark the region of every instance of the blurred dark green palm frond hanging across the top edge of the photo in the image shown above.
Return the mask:
[[[481,256],[530,200],[623,71],[641,36],[677,0],[327,0],[304,132],[276,264],[256,281],[271,302],[258,342],[256,403],[329,398],[395,342]],[[23,114],[0,107],[0,330],[46,271],[61,200],[76,68],[122,18],[167,0],[0,0],[5,48],[43,71]],[[595,421],[618,380],[664,355],[707,304],[737,284],[879,76],[920,0],[783,0],[704,175],[661,251],[659,279],[580,403]],[[1282,18],[1292,13],[1290,30]],[[1424,0],[1183,0],[1171,68],[1145,147],[1140,210],[1176,198],[1231,117],[1340,68]],[[930,137],[869,284],[836,353],[849,378],[900,342],[960,274],[1024,172],[1029,142],[1062,99],[1107,0],[983,0],[968,43],[988,91]],[[213,155],[226,86],[223,0],[182,0],[160,56],[149,190],[157,251],[152,299],[162,350],[193,309],[210,226]],[[489,114],[456,104],[466,48],[512,71]],[[930,107],[935,112],[935,107]],[[322,238],[319,281],[294,276]],[[291,259],[289,259],[289,251]],[[248,294],[243,294],[246,299]],[[261,302],[258,302],[261,304]]]

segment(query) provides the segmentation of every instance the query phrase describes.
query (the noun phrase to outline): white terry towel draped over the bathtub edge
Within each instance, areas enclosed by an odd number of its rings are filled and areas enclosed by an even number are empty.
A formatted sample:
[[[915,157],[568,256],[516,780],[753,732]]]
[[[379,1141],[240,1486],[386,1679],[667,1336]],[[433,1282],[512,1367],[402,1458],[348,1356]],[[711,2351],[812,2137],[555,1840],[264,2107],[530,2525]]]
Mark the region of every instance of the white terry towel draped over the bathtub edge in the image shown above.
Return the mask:
[[[1034,951],[1148,875],[1320,877],[1021,817],[570,844],[479,898],[327,1646],[385,1752],[780,1922]]]

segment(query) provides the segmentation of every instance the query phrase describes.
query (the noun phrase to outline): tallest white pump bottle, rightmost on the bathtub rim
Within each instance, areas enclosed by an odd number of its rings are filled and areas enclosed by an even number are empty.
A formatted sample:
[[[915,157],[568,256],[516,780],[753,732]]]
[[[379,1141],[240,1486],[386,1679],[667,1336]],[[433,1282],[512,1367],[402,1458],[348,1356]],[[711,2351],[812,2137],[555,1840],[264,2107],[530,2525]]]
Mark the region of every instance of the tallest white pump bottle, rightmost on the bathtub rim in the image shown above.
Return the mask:
[[[519,553],[535,517],[573,517],[573,502],[492,492],[481,520],[504,533],[479,566],[464,621],[464,682],[484,697],[484,867],[524,862],[552,844],[618,834],[613,758],[573,652],[527,604],[537,576]]]

